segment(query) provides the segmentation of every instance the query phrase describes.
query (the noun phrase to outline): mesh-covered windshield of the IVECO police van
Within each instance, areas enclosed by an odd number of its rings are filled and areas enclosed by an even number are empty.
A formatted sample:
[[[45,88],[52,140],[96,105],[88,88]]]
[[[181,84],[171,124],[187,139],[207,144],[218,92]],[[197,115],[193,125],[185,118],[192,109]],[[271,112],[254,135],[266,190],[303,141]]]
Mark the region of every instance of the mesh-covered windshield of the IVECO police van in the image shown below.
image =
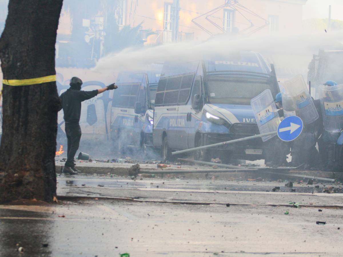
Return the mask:
[[[270,89],[275,97],[272,76],[255,72],[207,72],[206,90],[211,103],[250,105],[250,100]]]

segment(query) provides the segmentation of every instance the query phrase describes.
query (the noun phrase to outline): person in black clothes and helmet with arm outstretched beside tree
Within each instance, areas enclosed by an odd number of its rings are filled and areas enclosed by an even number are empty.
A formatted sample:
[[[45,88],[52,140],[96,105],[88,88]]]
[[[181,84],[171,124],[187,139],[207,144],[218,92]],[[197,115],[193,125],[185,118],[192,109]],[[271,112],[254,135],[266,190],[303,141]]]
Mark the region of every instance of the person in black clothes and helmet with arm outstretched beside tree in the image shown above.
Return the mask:
[[[66,135],[68,139],[67,161],[63,168],[63,173],[77,174],[79,171],[75,168],[74,156],[79,149],[81,139],[81,128],[79,125],[81,115],[81,102],[91,99],[106,90],[118,88],[114,83],[101,89],[93,91],[81,90],[82,80],[78,77],[70,79],[70,88],[60,95],[61,105],[59,110],[63,109],[64,121],[66,124]]]

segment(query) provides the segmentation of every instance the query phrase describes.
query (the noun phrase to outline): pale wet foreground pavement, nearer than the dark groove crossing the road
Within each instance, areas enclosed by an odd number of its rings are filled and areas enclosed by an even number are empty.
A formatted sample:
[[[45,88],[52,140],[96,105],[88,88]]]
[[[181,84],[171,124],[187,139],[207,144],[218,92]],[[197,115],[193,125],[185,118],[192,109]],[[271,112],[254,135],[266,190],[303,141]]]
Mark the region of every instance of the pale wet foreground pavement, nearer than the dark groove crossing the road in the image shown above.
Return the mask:
[[[340,256],[342,218],[341,209],[329,208],[100,199],[9,205],[0,208],[0,255]]]

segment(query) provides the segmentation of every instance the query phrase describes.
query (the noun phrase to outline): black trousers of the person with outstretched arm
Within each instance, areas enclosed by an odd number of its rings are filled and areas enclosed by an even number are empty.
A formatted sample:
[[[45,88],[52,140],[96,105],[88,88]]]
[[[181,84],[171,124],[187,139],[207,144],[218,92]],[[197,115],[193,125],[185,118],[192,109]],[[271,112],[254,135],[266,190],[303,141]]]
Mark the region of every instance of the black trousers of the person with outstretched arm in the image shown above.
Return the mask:
[[[74,156],[79,149],[81,127],[79,122],[66,122],[66,135],[68,139],[67,161],[64,166],[74,167]]]

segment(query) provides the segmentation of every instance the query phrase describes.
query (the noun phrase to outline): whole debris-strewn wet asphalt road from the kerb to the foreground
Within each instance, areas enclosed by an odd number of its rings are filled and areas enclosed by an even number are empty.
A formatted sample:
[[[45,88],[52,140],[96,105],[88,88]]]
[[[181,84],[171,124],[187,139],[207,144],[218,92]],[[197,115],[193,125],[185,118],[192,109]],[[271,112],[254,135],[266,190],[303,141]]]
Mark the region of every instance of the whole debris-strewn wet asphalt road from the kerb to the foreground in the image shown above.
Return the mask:
[[[342,194],[284,184],[61,175],[58,204],[0,205],[0,256],[342,255]]]

